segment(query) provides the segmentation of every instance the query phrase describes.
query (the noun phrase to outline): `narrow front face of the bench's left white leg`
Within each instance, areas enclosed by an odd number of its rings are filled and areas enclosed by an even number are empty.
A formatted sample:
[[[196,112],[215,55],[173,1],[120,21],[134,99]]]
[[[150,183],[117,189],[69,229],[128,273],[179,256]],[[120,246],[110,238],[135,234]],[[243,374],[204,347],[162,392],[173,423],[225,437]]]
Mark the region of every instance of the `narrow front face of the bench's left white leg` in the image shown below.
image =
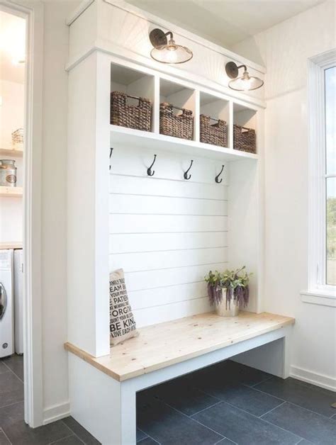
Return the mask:
[[[121,445],[136,444],[136,392],[132,381],[121,382]]]

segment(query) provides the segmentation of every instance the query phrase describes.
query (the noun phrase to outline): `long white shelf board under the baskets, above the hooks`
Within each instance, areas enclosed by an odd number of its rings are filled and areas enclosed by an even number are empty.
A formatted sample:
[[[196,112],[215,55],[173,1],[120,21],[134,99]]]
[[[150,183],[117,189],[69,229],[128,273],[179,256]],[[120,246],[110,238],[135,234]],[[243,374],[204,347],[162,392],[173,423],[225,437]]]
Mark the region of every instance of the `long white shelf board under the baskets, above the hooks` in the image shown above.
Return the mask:
[[[203,142],[196,142],[194,140],[158,135],[147,131],[133,130],[133,128],[119,127],[118,125],[110,125],[110,128],[111,147],[121,145],[125,147],[152,148],[156,151],[178,152],[180,154],[191,154],[193,156],[223,159],[225,161],[258,159],[257,154],[241,152],[239,150],[218,147],[211,144],[203,144]]]

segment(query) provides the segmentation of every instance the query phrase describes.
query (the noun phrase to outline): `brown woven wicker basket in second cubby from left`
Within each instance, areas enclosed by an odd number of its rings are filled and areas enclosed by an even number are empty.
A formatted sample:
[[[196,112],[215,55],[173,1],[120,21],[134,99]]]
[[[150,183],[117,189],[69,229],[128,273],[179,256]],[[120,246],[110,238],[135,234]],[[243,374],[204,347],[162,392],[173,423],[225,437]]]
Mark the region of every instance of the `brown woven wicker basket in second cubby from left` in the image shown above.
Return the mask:
[[[181,110],[182,114],[174,115],[173,109]],[[159,106],[159,132],[162,135],[192,139],[194,117],[191,110],[162,102]]]

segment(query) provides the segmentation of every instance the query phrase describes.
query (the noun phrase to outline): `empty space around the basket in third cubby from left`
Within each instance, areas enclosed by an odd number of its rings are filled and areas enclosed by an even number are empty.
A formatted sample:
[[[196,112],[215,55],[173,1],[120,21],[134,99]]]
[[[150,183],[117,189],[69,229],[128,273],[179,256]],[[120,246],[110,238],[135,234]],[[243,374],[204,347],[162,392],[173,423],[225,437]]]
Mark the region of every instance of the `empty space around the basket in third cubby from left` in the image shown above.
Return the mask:
[[[200,115],[210,116],[215,120],[225,120],[227,125],[227,144],[222,145],[223,147],[230,147],[229,140],[229,125],[230,125],[230,103],[229,101],[225,101],[224,99],[213,96],[212,94],[200,92]],[[215,120],[211,120],[211,124],[215,124]],[[201,137],[201,135],[200,135]]]

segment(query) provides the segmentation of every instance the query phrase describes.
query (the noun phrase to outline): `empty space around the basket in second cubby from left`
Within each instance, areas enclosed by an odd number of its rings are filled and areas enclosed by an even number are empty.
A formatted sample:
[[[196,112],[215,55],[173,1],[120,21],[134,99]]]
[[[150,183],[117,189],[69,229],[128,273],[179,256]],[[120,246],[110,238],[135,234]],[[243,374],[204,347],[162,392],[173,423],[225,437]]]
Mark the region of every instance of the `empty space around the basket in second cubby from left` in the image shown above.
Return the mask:
[[[196,124],[196,101],[195,101],[195,90],[186,88],[181,84],[168,81],[166,79],[160,79],[159,88],[159,101],[167,102],[172,104],[177,108],[186,108],[186,110],[191,110],[194,117],[193,125],[193,136],[191,140],[195,140],[195,124]],[[179,116],[182,111],[174,109],[174,115]],[[161,131],[160,131],[161,133]]]

